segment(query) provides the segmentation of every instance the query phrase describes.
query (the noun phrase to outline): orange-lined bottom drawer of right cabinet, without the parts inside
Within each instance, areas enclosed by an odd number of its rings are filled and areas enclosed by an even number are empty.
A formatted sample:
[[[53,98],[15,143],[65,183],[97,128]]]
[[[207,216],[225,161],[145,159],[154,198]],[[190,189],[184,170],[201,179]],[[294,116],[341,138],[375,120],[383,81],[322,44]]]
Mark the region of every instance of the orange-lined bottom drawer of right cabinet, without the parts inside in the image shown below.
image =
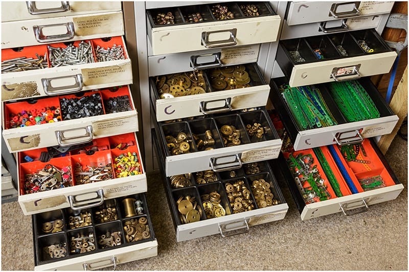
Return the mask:
[[[322,150],[328,164],[330,165],[336,180],[338,181],[339,188],[342,192],[342,196],[336,197],[331,193],[332,197],[323,201],[313,201],[310,202],[310,195],[308,192],[302,192],[308,185],[302,185],[294,180],[291,174],[290,168],[286,163],[286,159],[289,158],[289,153],[284,153],[280,155],[281,169],[285,180],[287,182],[288,188],[296,201],[297,208],[301,213],[301,219],[307,220],[310,218],[320,217],[327,214],[343,212],[345,215],[351,215],[359,212],[365,212],[369,208],[369,205],[387,202],[396,199],[396,197],[403,190],[403,185],[397,180],[392,169],[388,165],[381,152],[379,151],[376,143],[372,139],[365,139],[362,142],[363,149],[365,149],[366,156],[362,155],[362,147],[360,148],[359,154],[365,160],[365,163],[351,161],[348,162],[344,159],[343,155],[339,152],[336,145],[329,146],[332,147],[334,152],[339,158],[339,162],[345,167],[345,175],[349,177],[350,183],[353,183],[355,190],[347,183],[347,178],[342,174],[342,170],[336,163],[335,157],[331,155],[329,147],[320,147]],[[294,157],[297,155],[312,155],[313,164],[318,164],[316,169],[319,169],[319,173],[322,174],[322,166],[320,163],[316,163],[316,155],[313,150],[302,150],[293,153]],[[314,168],[315,169],[315,168]],[[379,178],[380,177],[380,178]],[[324,175],[324,179],[325,179]],[[370,180],[371,178],[378,178],[381,180],[378,187],[373,187],[371,190],[364,188],[365,186],[372,186],[366,183],[365,180]],[[328,182],[328,181],[327,181]],[[372,183],[374,184],[374,183]],[[329,184],[328,184],[329,185]],[[329,186],[328,188],[331,188]],[[329,190],[331,190],[329,189]]]

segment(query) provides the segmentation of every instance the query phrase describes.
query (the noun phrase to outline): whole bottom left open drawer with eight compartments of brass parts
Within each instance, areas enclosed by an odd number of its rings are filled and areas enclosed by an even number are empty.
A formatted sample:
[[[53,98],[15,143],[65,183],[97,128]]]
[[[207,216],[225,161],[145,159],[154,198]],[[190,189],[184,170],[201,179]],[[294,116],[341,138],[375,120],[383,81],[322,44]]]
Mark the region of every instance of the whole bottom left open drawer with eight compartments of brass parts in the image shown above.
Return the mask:
[[[115,270],[121,263],[157,255],[143,193],[128,193],[94,208],[35,214],[32,222],[35,270],[99,270],[112,266]],[[138,231],[132,230],[136,227]]]

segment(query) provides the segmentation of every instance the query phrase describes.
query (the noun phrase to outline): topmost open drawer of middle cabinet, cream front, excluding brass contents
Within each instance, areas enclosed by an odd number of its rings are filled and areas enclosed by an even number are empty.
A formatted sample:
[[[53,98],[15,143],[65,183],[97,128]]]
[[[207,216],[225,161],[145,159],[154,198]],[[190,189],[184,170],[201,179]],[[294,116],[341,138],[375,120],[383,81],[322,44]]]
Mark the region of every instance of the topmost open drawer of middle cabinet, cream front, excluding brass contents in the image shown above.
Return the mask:
[[[260,3],[260,5],[264,5],[262,2]],[[274,15],[270,7],[268,7],[270,11],[263,16],[245,17],[240,15],[241,11],[235,3],[230,5],[235,6],[236,11],[232,8],[230,10],[238,13],[234,19],[217,21],[210,19],[212,15],[209,13],[209,19],[203,22],[186,23],[185,19],[181,18],[183,15],[180,15],[179,9],[174,8],[172,12],[175,13],[175,24],[162,26],[156,25],[154,22],[158,11],[148,10],[147,31],[153,54],[172,54],[277,40],[280,16]],[[203,10],[200,12],[210,12],[210,6],[209,8],[206,6],[196,7],[197,10],[199,8]],[[207,11],[204,11],[205,9]],[[191,9],[189,12],[193,12],[193,10]],[[161,12],[167,13],[167,9],[163,8]]]

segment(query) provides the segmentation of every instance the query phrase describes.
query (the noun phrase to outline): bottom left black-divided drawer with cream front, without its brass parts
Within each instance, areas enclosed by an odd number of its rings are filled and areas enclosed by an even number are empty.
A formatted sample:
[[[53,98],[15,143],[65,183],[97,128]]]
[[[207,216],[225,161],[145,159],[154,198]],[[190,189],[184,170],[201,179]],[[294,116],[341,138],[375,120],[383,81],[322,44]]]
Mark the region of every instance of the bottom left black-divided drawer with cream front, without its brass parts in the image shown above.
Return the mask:
[[[124,205],[122,204],[122,200],[126,198],[133,198],[136,201],[141,201],[141,207],[143,208],[142,212],[135,213],[135,215],[131,217],[126,217],[126,214],[123,212]],[[112,210],[115,208],[117,213],[116,219],[113,219],[113,216],[107,216],[110,220],[106,219],[101,221],[97,212],[104,208],[111,208]],[[85,226],[72,228],[70,222],[73,220],[70,219],[70,217],[77,219],[82,218],[81,214],[85,215],[85,212],[92,217],[90,224],[88,223],[88,226],[82,224]],[[128,242],[125,238],[127,232],[123,227],[126,226],[125,224],[127,221],[131,219],[138,221],[142,217],[146,219],[146,226],[149,226],[150,237],[144,239],[141,236],[141,240]],[[58,219],[63,222],[60,231],[49,233],[43,231],[42,226],[44,223],[50,221],[55,222],[55,220]],[[116,268],[120,269],[120,266],[117,266],[119,264],[150,258],[157,255],[157,240],[153,231],[146,197],[143,193],[126,194],[124,197],[105,201],[103,204],[94,207],[93,209],[83,209],[79,211],[57,209],[50,212],[35,214],[32,216],[32,222],[35,270],[101,270],[101,268],[104,267],[110,267],[115,270]],[[90,232],[92,232],[95,237],[95,249],[85,253],[72,253],[71,238],[77,237],[78,234],[88,236]],[[106,235],[107,232],[119,232],[121,242],[115,246],[103,249],[100,245],[100,239],[101,236]],[[109,240],[109,237],[106,238]],[[49,245],[55,245],[58,243],[66,243],[65,257],[50,258],[48,256],[48,251],[43,253],[44,248],[48,249]]]

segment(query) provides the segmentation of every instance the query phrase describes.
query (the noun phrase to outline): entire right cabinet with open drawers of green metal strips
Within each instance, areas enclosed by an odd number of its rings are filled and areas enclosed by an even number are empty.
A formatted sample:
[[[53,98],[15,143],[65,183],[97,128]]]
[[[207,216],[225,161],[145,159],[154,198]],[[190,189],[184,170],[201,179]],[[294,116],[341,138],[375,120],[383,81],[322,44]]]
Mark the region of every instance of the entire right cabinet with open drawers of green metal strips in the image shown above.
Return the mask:
[[[281,169],[302,220],[365,212],[403,189],[372,138],[398,121],[369,77],[389,72],[396,58],[380,37],[392,6],[278,4],[283,26],[267,62],[274,62],[270,101],[284,130],[271,167]],[[360,106],[365,118],[356,118]]]

